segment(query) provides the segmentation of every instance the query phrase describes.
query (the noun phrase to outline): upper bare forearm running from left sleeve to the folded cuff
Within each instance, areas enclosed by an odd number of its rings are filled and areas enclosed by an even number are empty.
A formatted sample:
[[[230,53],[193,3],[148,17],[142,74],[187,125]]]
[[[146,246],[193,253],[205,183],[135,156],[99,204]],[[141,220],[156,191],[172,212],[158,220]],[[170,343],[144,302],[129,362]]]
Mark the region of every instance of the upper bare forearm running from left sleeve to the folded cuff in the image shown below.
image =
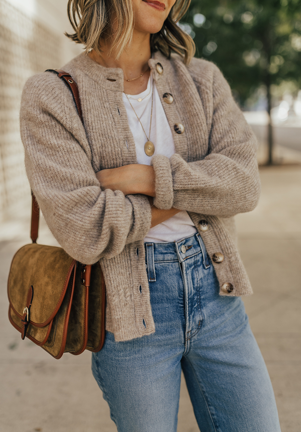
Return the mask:
[[[102,189],[122,191],[125,195],[155,196],[155,173],[150,165],[131,164],[103,169],[96,173]]]

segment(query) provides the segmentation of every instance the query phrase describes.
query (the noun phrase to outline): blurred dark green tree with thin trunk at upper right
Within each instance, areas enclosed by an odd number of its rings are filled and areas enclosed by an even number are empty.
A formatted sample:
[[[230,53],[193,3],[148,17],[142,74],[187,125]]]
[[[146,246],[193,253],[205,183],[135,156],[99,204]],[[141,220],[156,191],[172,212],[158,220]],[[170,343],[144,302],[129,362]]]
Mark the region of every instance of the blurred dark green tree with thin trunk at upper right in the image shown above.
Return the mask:
[[[272,84],[293,80],[301,88],[301,0],[191,0],[185,19],[196,55],[220,67],[241,105],[265,86],[270,114]]]

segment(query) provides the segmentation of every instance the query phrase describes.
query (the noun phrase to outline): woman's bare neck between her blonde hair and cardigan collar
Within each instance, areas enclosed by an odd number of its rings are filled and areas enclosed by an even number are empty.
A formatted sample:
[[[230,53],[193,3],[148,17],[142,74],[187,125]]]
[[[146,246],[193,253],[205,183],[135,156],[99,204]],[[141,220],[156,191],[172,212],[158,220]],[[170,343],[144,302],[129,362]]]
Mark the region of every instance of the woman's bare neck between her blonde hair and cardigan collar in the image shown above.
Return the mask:
[[[135,32],[134,29],[131,47],[124,51],[118,60],[114,58],[114,55],[109,56],[108,51],[109,43],[102,41],[101,55],[93,50],[89,56],[104,67],[120,67],[123,70],[125,93],[138,95],[138,93],[143,92],[147,88],[147,81],[150,76],[148,69],[148,60],[151,57],[150,34],[141,34]],[[139,77],[141,74],[143,75]]]

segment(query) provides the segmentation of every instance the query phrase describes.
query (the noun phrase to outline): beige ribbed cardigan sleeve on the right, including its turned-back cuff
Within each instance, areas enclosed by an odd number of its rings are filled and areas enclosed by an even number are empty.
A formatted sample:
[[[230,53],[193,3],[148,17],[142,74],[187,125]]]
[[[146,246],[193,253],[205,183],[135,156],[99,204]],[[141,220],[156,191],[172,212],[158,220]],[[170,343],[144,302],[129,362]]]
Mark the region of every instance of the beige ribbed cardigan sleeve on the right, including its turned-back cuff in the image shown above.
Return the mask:
[[[233,100],[223,74],[212,64],[211,70],[212,89],[207,93],[213,100],[209,154],[195,162],[185,162],[179,154],[174,154],[169,159],[170,166],[166,158],[154,156],[156,196],[158,191],[170,207],[229,217],[251,211],[257,205],[260,194],[257,140]],[[206,92],[202,94],[206,105],[205,97]],[[173,191],[167,186],[171,183]],[[157,206],[161,202],[162,198]]]

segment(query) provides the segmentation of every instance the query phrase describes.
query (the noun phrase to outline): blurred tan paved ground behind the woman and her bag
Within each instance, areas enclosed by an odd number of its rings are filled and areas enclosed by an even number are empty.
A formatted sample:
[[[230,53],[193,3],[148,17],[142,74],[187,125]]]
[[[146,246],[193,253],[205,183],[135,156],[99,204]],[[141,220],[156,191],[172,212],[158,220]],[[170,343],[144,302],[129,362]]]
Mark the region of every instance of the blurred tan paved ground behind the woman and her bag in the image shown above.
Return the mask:
[[[300,432],[301,167],[262,168],[261,179],[259,206],[237,216],[241,255],[254,288],[245,305],[273,382],[282,432]],[[55,360],[22,341],[9,324],[9,264],[28,240],[6,237],[0,244],[0,431],[116,432],[90,372],[90,353]],[[45,228],[40,242],[55,244]],[[178,432],[198,432],[184,382]]]

